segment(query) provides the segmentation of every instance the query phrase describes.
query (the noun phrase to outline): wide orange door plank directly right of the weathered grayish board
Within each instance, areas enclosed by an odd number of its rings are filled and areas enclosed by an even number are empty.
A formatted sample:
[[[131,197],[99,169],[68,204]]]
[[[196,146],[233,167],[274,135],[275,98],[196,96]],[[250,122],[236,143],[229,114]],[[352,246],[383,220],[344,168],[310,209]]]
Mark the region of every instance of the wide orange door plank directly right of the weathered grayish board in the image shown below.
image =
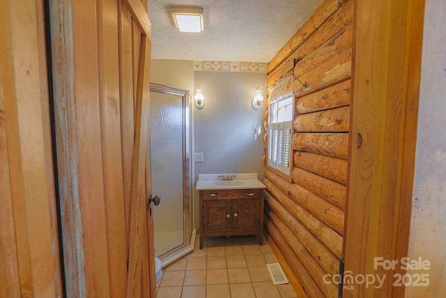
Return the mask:
[[[73,3],[75,110],[79,146],[79,197],[84,226],[86,291],[99,297],[111,295],[109,288],[105,191],[102,169],[101,111],[97,3]],[[76,45],[89,45],[76,46]],[[88,228],[86,228],[88,227]],[[107,266],[105,266],[107,265]]]

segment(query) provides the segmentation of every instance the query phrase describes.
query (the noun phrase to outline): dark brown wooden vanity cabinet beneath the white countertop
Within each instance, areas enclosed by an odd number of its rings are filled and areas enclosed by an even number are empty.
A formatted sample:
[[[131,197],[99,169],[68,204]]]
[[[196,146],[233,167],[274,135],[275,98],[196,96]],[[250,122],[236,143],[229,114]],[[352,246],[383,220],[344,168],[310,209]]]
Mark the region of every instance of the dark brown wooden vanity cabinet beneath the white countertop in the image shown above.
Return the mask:
[[[263,189],[200,191],[200,248],[203,238],[258,234],[263,242]]]

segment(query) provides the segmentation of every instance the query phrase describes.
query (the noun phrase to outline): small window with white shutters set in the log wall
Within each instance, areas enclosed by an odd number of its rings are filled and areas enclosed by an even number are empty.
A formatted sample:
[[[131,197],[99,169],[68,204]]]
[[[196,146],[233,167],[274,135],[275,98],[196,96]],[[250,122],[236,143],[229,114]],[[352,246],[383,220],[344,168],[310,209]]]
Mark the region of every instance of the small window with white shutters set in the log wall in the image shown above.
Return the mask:
[[[294,96],[270,103],[268,125],[268,165],[291,174]]]

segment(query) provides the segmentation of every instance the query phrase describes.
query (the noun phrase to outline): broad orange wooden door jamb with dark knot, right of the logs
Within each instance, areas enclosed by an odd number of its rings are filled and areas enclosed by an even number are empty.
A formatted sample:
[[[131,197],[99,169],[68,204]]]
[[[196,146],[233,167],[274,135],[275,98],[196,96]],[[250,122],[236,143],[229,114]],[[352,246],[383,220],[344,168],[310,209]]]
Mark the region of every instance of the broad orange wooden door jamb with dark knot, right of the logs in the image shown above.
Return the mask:
[[[346,218],[345,270],[392,276],[374,258],[406,255],[413,185],[415,121],[420,86],[424,1],[356,1],[351,161]],[[422,29],[420,29],[422,30]],[[409,70],[410,69],[410,70]],[[415,125],[415,124],[414,124]],[[408,154],[406,156],[406,154]],[[403,196],[403,194],[405,194]],[[361,244],[361,249],[358,249]],[[403,289],[386,278],[379,289],[354,284],[345,297],[394,297]]]

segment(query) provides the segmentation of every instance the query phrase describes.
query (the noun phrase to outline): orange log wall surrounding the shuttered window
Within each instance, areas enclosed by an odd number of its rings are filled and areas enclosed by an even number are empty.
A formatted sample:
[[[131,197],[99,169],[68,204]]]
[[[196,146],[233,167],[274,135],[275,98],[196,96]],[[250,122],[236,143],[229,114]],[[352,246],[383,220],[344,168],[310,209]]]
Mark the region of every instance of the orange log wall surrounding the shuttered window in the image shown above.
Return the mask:
[[[304,270],[293,286],[309,297],[338,295],[323,277],[339,273],[343,251],[352,21],[353,0],[324,1],[268,66],[268,86],[294,69],[296,112],[292,181],[266,169],[266,229],[284,260]]]

